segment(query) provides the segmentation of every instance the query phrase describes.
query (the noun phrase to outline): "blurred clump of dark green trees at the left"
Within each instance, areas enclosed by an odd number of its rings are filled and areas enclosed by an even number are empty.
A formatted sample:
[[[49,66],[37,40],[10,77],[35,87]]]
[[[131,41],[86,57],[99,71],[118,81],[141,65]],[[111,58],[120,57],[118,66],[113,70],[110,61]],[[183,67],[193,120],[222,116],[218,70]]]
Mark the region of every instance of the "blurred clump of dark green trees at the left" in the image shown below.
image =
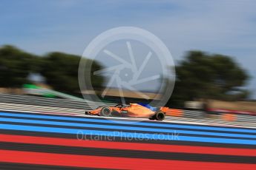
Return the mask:
[[[13,46],[3,46],[0,47],[0,86],[21,87],[30,83],[27,78],[30,73],[40,73],[53,89],[70,94],[79,93],[79,61],[79,55],[51,52],[37,56]],[[91,72],[102,68],[96,61],[89,62],[93,62]],[[94,76],[92,79],[93,87],[100,87],[103,82],[102,76]]]

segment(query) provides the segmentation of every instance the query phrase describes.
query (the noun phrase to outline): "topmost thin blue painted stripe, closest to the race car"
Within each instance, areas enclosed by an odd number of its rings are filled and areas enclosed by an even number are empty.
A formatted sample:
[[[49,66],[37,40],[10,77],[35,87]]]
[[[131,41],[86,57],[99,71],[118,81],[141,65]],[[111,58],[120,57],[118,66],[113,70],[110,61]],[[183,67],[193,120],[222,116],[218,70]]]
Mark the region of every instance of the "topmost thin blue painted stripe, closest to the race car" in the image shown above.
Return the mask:
[[[136,122],[136,121],[122,121],[122,120],[108,120],[108,119],[102,120],[102,119],[91,119],[91,118],[71,118],[68,116],[12,114],[9,112],[0,112],[0,115],[15,116],[15,117],[19,117],[19,118],[42,118],[42,119],[45,118],[45,119],[52,119],[52,120],[89,121],[89,122],[93,122],[93,123],[121,123],[121,124],[131,124],[131,125],[140,125],[140,126],[157,126],[157,127],[168,127],[168,128],[256,133],[255,129],[226,128],[226,127],[224,128],[224,127],[212,127],[212,126],[189,126],[189,125],[179,125],[179,124],[174,124],[174,123],[145,123],[145,122]]]

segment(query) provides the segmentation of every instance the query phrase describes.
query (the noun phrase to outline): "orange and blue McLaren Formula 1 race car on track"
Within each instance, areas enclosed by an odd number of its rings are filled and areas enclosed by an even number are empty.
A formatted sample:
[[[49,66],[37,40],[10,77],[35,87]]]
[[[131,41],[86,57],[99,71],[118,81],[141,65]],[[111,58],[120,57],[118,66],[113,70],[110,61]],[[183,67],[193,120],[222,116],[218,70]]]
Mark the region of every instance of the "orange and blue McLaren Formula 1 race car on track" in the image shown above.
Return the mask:
[[[105,117],[133,117],[149,118],[150,120],[164,120],[168,107],[152,107],[148,104],[131,103],[130,105],[116,104],[116,106],[102,106],[85,112],[86,115]]]

